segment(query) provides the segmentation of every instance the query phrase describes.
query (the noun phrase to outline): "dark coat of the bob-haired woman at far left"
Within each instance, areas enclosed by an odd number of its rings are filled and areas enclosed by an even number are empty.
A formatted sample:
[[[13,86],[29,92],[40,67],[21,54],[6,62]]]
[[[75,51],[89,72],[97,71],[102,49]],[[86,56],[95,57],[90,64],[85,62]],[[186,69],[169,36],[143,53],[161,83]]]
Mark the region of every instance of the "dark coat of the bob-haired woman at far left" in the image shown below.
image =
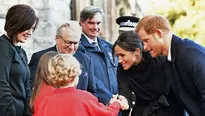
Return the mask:
[[[0,36],[0,115],[31,116],[30,71],[25,51]]]

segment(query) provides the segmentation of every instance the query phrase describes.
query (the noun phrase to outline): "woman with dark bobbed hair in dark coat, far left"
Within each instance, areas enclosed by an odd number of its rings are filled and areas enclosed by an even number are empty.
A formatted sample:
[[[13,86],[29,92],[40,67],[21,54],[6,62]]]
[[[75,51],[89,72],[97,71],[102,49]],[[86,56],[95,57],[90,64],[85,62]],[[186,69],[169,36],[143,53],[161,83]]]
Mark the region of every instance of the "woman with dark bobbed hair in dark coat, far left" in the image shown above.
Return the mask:
[[[18,4],[9,8],[5,21],[6,33],[0,36],[0,115],[31,116],[30,70],[18,44],[30,38],[39,19],[30,6]]]

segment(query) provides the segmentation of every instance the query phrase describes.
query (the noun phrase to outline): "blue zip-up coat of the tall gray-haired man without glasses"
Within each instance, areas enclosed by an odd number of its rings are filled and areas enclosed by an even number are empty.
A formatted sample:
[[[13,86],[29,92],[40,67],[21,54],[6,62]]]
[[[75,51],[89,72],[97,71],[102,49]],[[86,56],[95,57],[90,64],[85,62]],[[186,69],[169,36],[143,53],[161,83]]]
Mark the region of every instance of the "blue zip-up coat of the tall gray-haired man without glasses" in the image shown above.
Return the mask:
[[[101,50],[90,44],[82,34],[78,51],[88,55],[94,64],[94,75],[97,78],[97,96],[105,105],[109,103],[113,94],[118,93],[117,86],[117,58],[112,56],[112,44],[97,38]]]

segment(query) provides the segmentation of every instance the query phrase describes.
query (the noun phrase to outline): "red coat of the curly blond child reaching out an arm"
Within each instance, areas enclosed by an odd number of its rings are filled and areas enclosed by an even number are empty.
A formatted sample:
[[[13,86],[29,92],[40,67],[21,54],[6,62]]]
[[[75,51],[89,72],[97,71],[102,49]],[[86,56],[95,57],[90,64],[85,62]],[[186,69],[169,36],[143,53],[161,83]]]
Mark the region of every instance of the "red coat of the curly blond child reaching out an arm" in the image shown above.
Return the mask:
[[[41,100],[36,116],[117,116],[120,107],[118,102],[106,107],[89,92],[69,87]]]

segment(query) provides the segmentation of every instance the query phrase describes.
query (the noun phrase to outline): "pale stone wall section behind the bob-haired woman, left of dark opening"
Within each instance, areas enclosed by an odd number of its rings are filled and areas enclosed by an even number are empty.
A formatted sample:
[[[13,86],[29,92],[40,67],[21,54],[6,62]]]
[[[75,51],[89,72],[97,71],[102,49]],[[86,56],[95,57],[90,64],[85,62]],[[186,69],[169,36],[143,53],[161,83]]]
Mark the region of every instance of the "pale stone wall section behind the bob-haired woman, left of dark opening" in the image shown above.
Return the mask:
[[[70,19],[71,0],[0,0],[0,35],[4,33],[5,15],[15,4],[28,4],[39,16],[38,28],[22,47],[28,59],[33,52],[48,48],[55,44],[55,32],[59,24]]]

